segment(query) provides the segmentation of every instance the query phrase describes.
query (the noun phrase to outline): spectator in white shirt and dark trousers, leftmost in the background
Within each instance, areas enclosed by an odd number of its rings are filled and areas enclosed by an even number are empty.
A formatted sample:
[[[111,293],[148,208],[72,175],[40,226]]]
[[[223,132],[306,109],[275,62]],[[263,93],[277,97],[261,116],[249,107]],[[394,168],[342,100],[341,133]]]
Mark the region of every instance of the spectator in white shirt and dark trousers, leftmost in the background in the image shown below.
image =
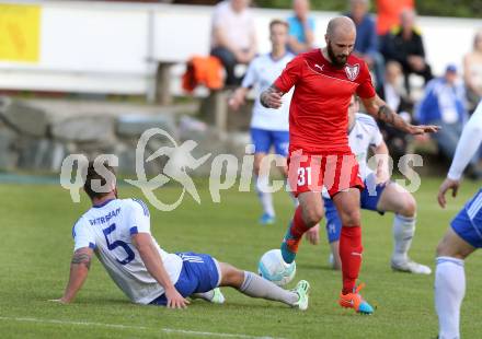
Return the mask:
[[[238,63],[248,65],[256,55],[256,34],[250,0],[225,0],[213,15],[211,55],[226,69],[226,85],[240,83],[234,74]]]

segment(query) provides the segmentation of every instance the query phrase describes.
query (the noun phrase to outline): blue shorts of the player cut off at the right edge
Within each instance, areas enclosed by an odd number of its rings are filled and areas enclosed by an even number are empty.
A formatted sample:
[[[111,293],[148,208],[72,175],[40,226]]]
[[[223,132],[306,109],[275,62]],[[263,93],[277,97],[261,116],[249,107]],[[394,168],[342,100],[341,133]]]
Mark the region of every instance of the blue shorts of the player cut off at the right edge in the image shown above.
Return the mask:
[[[466,203],[450,225],[467,243],[482,248],[482,189]]]

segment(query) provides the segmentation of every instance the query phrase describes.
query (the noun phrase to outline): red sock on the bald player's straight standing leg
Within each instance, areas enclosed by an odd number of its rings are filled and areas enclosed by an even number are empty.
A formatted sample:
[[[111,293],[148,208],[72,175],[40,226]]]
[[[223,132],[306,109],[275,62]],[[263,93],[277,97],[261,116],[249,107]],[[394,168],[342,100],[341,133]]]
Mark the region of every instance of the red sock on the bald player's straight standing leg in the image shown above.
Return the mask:
[[[362,266],[362,227],[342,226],[340,258],[342,259],[343,294],[352,293]]]

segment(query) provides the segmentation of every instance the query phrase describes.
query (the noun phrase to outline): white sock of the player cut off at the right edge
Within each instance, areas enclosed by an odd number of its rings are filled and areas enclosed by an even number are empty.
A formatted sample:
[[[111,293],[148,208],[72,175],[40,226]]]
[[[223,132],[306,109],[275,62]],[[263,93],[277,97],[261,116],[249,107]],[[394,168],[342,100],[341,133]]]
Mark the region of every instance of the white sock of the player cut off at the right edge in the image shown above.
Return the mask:
[[[438,257],[435,270],[435,308],[439,339],[459,339],[460,306],[466,294],[463,260]]]

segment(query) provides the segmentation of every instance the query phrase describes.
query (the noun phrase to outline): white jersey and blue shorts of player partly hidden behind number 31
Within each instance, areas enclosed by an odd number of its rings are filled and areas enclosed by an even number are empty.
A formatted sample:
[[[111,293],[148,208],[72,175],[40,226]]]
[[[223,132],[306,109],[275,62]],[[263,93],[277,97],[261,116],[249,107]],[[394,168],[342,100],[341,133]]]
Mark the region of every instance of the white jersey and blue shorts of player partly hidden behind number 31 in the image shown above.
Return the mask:
[[[364,210],[377,211],[378,200],[386,184],[376,183],[376,174],[368,167],[367,155],[370,147],[379,147],[383,142],[377,121],[366,114],[357,113],[355,124],[348,132],[348,143],[355,154],[359,174],[364,180],[365,188],[360,192],[360,207]],[[328,191],[323,189],[324,215],[326,219],[326,235],[330,243],[340,239],[342,221],[340,220],[336,207],[330,199]]]

